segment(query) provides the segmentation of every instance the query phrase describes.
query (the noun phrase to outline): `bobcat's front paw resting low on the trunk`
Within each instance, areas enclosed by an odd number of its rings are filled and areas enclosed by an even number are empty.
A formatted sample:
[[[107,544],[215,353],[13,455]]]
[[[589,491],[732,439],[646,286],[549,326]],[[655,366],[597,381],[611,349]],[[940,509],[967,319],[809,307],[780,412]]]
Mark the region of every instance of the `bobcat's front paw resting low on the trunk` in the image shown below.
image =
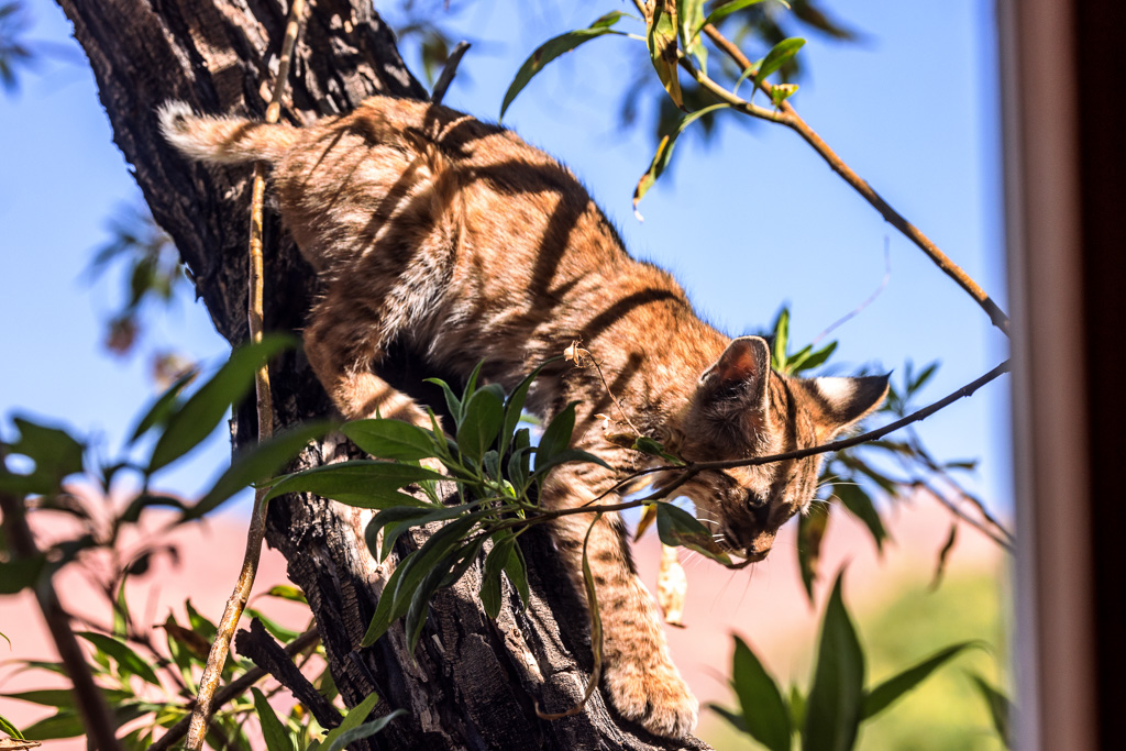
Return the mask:
[[[699,701],[671,664],[607,665],[606,685],[622,716],[654,735],[683,737],[696,727]]]

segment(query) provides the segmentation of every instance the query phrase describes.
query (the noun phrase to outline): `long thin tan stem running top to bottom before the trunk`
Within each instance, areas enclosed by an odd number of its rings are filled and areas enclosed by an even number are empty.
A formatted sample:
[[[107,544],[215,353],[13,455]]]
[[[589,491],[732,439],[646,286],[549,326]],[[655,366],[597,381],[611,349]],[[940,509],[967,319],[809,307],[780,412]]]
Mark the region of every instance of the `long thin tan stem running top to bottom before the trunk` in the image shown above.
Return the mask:
[[[297,33],[301,30],[301,16],[304,12],[304,0],[292,0],[289,6],[289,18],[286,21],[285,38],[282,42],[282,57],[278,61],[278,74],[274,81],[274,91],[270,96],[270,104],[266,108],[266,122],[277,123],[282,115],[282,96],[285,91],[286,79],[289,78],[289,61],[293,56],[293,48],[297,42]],[[249,274],[249,302],[247,316],[250,325],[251,341],[262,340],[262,204],[266,193],[266,168],[259,162],[254,164],[253,188],[250,208],[250,274]],[[258,396],[258,440],[262,441],[274,432],[274,405],[270,399],[269,370],[263,365],[254,374],[254,390]],[[207,735],[207,725],[213,712],[213,700],[215,690],[222,676],[223,664],[226,662],[227,652],[231,650],[231,640],[234,631],[239,626],[239,618],[247,607],[250,590],[254,585],[254,575],[258,573],[258,560],[262,551],[262,539],[266,537],[266,489],[254,492],[254,508],[250,517],[250,528],[247,530],[247,552],[242,561],[242,570],[239,572],[239,581],[235,584],[231,599],[226,602],[223,618],[220,620],[212,644],[211,654],[207,656],[207,667],[199,679],[199,692],[196,697],[196,706],[191,713],[190,726],[186,748],[189,751],[199,751],[203,748],[204,737]]]

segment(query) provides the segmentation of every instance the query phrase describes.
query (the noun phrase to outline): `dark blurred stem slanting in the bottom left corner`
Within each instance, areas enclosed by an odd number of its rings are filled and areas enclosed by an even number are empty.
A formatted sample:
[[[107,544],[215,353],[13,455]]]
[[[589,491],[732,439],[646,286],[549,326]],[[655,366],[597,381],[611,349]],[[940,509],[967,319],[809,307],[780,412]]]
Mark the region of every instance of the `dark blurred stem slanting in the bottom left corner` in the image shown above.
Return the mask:
[[[0,475],[7,473],[3,448],[0,446]],[[30,527],[27,526],[27,517],[24,515],[21,501],[14,495],[0,492],[0,511],[3,511],[3,530],[8,536],[8,545],[11,547],[12,554],[17,558],[24,560],[38,557],[41,552],[35,544],[35,536],[32,534]],[[71,685],[74,687],[74,703],[78,705],[82,725],[86,727],[90,741],[102,751],[116,751],[120,746],[117,743],[117,725],[114,722],[114,715],[106,704],[101,689],[93,682],[93,674],[90,672],[89,665],[86,664],[86,655],[71,628],[70,616],[59,601],[54,581],[50,574],[43,575],[32,589],[39,604],[39,609],[43,611],[43,619],[47,622],[47,629],[55,643],[55,650],[59,651],[59,658],[66,668],[66,677],[70,678]]]

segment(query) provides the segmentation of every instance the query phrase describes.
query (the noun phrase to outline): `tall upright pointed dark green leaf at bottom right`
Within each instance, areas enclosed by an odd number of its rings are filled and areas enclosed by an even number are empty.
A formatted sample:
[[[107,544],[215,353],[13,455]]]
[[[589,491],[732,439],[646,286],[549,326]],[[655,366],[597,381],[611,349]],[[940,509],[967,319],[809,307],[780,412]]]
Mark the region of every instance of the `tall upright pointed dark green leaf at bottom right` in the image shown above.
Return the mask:
[[[837,575],[821,623],[821,644],[805,706],[803,751],[848,751],[864,704],[864,651],[844,609],[843,571]]]

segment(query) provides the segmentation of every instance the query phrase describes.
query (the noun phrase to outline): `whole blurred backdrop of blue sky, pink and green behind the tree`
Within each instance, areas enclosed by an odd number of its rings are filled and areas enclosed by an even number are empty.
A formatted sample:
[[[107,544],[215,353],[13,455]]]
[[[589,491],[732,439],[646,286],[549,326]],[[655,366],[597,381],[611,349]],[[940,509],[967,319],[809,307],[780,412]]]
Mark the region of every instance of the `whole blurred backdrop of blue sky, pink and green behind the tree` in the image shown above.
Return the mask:
[[[427,86],[452,44],[472,43],[446,104],[485,119],[499,116],[516,71],[545,39],[609,10],[633,10],[614,0],[376,5]],[[796,64],[781,71],[799,84],[794,106],[1007,307],[991,3],[793,5],[784,12],[769,2],[761,16],[734,18],[725,32],[752,60],[781,38],[777,34],[805,38]],[[0,68],[7,82],[0,93],[0,351],[7,364],[0,368],[0,430],[10,430],[11,415],[28,414],[64,424],[116,455],[135,415],[177,372],[191,363],[217,364],[227,347],[194,301],[175,249],[146,218],[61,11],[46,0],[0,7],[15,8],[0,16],[0,42],[16,39],[28,53],[8,50],[8,68]],[[619,28],[643,33],[629,19]],[[606,36],[533,79],[504,125],[570,166],[629,251],[672,270],[699,313],[732,336],[774,331],[786,307],[792,351],[815,340],[839,342],[819,374],[892,370],[893,383],[903,383],[938,363],[913,394],[915,405],[1007,357],[1004,337],[981,310],[787,129],[731,111],[696,123],[641,202],[644,220],[635,216],[634,187],[677,117],[644,45]],[[917,426],[929,456],[973,464],[957,468],[958,490],[944,485],[946,494],[953,492],[957,503],[963,495],[978,498],[1002,521],[1011,519],[1013,502],[1007,390],[1002,378]],[[222,432],[167,474],[163,490],[190,499],[209,486],[229,458]],[[872,524],[834,502],[825,504],[833,524],[812,601],[795,555],[801,543],[794,525],[751,573],[690,562],[686,627],[669,631],[677,662],[701,700],[733,706],[726,680],[735,632],[780,683],[807,686],[825,590],[848,564],[846,593],[869,680],[954,642],[990,645],[958,658],[866,725],[859,746],[1001,748],[971,676],[1002,686],[1008,680],[1010,560],[960,524],[937,575],[954,517],[904,477],[892,457],[873,457],[870,466],[874,475],[892,480],[869,475],[861,483],[883,513],[883,553]],[[153,622],[182,607],[187,593],[217,618],[238,569],[236,540],[248,509],[244,494],[190,533],[203,535],[203,557],[214,575],[200,575],[202,558],[185,558],[131,584],[145,592],[138,598],[146,598]],[[198,549],[186,546],[191,548]],[[655,538],[643,539],[638,557],[652,582],[660,557]],[[259,587],[283,580],[275,561]],[[93,607],[82,605],[82,579],[74,578],[63,590],[74,600],[70,607]],[[0,632],[11,640],[10,647],[0,644],[3,659],[50,656],[39,623],[27,615],[32,607],[29,598],[0,599]],[[17,668],[0,667],[5,691],[44,683]],[[0,715],[18,725],[46,714],[45,707],[0,698]],[[703,713],[700,735],[721,749],[757,748],[711,712]]]

